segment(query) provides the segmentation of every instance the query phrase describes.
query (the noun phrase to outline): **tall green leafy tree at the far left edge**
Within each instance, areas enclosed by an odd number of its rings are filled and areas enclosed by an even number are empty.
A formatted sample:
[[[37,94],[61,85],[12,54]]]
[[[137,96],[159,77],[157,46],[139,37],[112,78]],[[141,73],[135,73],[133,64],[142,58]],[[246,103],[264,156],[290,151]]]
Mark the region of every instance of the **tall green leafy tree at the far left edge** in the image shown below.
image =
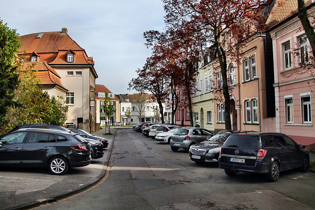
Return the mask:
[[[0,19],[0,123],[12,106],[14,91],[19,85],[19,65],[16,58],[22,43],[16,30],[9,29]]]

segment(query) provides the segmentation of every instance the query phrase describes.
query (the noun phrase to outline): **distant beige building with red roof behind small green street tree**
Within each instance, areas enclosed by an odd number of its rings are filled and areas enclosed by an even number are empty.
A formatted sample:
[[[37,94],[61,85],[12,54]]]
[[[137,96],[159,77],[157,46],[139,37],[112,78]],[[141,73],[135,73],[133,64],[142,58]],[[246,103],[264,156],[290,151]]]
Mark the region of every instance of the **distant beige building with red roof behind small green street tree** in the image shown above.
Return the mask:
[[[114,113],[108,118],[104,113],[105,93],[111,98],[111,103],[114,104]],[[105,122],[109,122],[110,125],[120,121],[120,101],[110,90],[103,85],[95,85],[95,101],[96,101],[96,123],[105,125]]]

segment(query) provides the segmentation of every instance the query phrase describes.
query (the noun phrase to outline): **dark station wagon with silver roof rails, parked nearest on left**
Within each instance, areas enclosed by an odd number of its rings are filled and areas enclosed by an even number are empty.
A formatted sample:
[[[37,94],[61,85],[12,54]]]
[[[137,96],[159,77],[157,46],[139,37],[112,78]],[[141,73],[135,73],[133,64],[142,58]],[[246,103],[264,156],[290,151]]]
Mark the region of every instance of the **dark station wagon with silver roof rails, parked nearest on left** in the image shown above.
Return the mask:
[[[24,128],[0,137],[0,166],[47,168],[63,175],[91,163],[91,147],[75,133]]]

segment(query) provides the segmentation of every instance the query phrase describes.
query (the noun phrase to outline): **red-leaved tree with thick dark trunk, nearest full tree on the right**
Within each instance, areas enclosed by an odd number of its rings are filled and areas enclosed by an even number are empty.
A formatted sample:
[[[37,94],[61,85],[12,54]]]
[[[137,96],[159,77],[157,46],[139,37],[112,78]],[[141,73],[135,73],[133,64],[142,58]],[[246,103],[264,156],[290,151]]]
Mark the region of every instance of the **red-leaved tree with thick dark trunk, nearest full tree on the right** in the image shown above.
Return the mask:
[[[263,26],[262,7],[271,0],[163,0],[166,23],[177,26],[187,23],[216,47],[222,74],[225,107],[225,128],[231,129],[230,94],[227,78],[227,55],[230,37],[234,43],[249,35],[251,28]],[[230,37],[229,37],[230,36]]]

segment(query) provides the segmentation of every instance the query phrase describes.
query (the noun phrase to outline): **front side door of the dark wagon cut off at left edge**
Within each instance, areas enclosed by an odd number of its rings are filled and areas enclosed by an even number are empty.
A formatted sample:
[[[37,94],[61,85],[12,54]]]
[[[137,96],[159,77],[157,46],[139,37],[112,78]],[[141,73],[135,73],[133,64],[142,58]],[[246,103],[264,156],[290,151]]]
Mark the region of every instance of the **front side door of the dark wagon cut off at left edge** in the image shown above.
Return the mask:
[[[0,139],[0,165],[20,165],[26,131],[4,135]]]

